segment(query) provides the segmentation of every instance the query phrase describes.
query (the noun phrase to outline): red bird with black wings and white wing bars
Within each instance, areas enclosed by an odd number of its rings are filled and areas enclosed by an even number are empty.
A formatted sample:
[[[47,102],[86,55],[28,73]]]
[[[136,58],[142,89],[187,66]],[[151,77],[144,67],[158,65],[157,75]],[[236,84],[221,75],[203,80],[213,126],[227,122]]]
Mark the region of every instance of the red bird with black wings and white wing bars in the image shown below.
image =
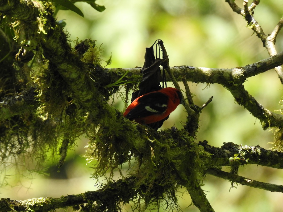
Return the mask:
[[[163,88],[136,98],[127,107],[124,116],[139,124],[151,124],[166,118],[183,102],[181,91]]]

